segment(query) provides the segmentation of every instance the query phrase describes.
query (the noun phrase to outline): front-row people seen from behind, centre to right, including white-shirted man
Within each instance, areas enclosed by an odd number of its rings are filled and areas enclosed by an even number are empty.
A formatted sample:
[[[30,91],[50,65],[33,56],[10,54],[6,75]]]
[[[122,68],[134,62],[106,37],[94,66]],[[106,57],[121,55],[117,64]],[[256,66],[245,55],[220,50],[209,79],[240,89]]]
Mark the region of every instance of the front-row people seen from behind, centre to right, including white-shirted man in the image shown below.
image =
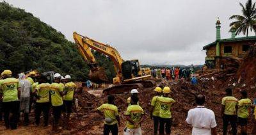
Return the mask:
[[[165,86],[163,89],[156,87],[154,89],[155,96],[152,97],[150,105],[150,118],[154,122],[154,134],[171,134],[172,127],[172,109],[175,100],[172,98],[171,89]],[[127,99],[127,110],[125,111],[126,125],[124,128],[125,135],[140,135],[141,123],[145,119],[145,111],[140,106],[140,98],[138,90],[131,90],[131,97]],[[241,99],[237,100],[232,96],[232,89],[227,88],[226,97],[221,102],[221,116],[223,118],[223,134],[227,134],[228,122],[232,127],[232,134],[237,134],[237,126],[241,126],[241,134],[247,134],[248,118],[250,116],[250,108],[256,110],[255,105],[248,99],[246,91],[241,91]],[[214,111],[207,109],[205,104],[205,96],[198,94],[195,96],[196,107],[188,111],[186,122],[193,127],[193,135],[216,135],[217,123]],[[118,134],[118,124],[120,118],[118,108],[115,106],[115,97],[108,96],[108,103],[98,107],[98,112],[105,116],[104,135],[111,132],[113,135]],[[254,111],[256,120],[256,111]],[[256,126],[256,123],[255,125]],[[255,134],[254,127],[252,134]]]

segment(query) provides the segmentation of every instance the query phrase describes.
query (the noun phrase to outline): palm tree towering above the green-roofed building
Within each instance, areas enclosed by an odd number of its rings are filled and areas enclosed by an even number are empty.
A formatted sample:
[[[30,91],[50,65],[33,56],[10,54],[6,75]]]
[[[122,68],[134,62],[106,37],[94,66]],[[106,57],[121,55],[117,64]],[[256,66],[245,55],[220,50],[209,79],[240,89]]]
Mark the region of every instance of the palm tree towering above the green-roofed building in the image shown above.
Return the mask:
[[[256,33],[256,10],[255,3],[252,3],[252,0],[248,0],[245,4],[239,3],[242,7],[243,15],[232,15],[229,19],[236,19],[236,21],[231,22],[230,26],[235,26],[236,35],[243,32],[246,37],[248,36],[249,28],[250,31],[254,31]],[[231,29],[230,29],[231,30]]]

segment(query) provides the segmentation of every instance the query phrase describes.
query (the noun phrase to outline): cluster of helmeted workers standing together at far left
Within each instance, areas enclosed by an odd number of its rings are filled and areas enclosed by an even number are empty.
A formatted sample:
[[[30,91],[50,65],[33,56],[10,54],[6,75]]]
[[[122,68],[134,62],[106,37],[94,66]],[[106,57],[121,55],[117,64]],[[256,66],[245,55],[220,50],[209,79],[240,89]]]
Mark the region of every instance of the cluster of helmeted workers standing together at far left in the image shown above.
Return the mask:
[[[35,125],[40,125],[41,113],[44,115],[44,127],[49,126],[52,114],[52,131],[59,131],[61,116],[69,122],[72,103],[77,86],[71,81],[70,75],[62,77],[56,73],[53,83],[46,75],[30,72],[29,77],[21,73],[19,79],[12,77],[11,70],[4,70],[0,80],[0,121],[4,119],[6,129],[17,129],[17,123],[29,124],[31,108],[35,109]],[[52,113],[50,113],[50,109]],[[24,120],[20,118],[22,115]]]

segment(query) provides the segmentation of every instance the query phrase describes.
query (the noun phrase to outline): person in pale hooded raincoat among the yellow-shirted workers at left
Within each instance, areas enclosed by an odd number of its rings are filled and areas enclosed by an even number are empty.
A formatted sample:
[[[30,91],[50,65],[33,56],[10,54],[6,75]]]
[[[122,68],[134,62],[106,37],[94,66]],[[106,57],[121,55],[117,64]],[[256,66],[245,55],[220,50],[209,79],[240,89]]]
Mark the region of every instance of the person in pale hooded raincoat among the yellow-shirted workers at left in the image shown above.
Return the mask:
[[[24,125],[29,124],[29,99],[31,83],[25,79],[25,74],[19,74],[20,111],[24,113]]]

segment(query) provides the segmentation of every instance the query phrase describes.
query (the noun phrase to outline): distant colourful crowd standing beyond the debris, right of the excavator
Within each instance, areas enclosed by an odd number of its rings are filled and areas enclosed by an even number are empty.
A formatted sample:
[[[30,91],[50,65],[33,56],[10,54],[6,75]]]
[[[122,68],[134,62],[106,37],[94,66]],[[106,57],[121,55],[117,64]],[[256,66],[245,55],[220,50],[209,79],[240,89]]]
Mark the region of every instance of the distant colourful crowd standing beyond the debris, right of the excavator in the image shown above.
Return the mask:
[[[164,78],[166,80],[188,79],[191,75],[195,74],[194,68],[180,68],[180,67],[163,67],[163,68],[152,68],[152,77]]]

